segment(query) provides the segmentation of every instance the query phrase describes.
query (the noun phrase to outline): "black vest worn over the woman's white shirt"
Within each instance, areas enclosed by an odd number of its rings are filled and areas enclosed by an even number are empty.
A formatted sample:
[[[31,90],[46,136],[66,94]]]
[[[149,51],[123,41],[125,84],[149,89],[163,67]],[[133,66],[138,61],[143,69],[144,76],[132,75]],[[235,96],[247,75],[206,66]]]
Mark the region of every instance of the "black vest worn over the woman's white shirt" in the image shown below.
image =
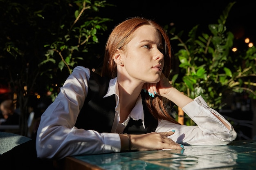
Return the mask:
[[[83,107],[76,119],[75,126],[85,130],[96,130],[98,132],[110,132],[115,117],[115,95],[103,98],[108,91],[110,79],[101,77],[97,73],[91,71],[88,81],[88,94]],[[124,133],[144,134],[154,132],[157,128],[158,121],[151,115],[146,107],[145,93],[141,91],[142,104],[144,108],[144,124],[142,121],[133,120],[128,122]]]

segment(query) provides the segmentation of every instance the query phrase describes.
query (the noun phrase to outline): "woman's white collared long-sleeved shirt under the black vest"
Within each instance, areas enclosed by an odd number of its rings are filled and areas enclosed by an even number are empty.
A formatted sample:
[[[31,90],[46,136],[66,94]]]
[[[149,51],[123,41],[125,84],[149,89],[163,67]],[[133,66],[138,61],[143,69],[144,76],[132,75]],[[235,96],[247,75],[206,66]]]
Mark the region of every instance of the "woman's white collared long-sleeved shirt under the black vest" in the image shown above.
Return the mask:
[[[88,93],[89,77],[88,68],[82,66],[74,68],[54,102],[41,116],[36,140],[38,157],[63,158],[72,155],[120,152],[119,133],[123,132],[130,117],[135,120],[141,119],[144,125],[141,96],[138,97],[128,119],[119,124],[119,93],[117,78],[114,78],[110,80],[105,95],[107,97],[115,94],[116,97],[115,119],[111,133],[74,127]],[[231,124],[218,112],[209,108],[202,97],[197,97],[182,110],[198,126],[185,126],[161,120],[158,121],[156,132],[175,130],[170,138],[179,144],[190,145],[225,145],[236,139],[237,134]],[[231,129],[228,130],[212,112],[225,120]]]

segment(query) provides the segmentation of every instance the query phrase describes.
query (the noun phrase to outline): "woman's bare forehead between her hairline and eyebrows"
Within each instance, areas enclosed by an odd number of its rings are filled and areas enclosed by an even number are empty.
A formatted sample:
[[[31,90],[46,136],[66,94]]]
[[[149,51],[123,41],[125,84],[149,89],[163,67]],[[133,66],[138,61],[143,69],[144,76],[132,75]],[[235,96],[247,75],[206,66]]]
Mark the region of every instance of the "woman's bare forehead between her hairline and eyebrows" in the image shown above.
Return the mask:
[[[150,25],[143,25],[137,28],[133,33],[134,40],[151,40],[156,43],[161,43],[162,38],[161,34],[155,29],[153,26]]]

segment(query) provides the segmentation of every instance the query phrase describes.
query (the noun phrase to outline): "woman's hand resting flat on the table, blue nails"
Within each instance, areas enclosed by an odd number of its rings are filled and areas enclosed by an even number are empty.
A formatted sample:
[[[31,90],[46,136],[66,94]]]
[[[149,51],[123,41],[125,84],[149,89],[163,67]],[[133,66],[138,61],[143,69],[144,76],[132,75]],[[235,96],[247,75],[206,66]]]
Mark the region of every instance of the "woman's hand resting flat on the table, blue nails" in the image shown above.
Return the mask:
[[[142,135],[130,135],[131,150],[162,150],[162,149],[183,149],[184,146],[177,144],[168,136],[174,132],[151,132]]]

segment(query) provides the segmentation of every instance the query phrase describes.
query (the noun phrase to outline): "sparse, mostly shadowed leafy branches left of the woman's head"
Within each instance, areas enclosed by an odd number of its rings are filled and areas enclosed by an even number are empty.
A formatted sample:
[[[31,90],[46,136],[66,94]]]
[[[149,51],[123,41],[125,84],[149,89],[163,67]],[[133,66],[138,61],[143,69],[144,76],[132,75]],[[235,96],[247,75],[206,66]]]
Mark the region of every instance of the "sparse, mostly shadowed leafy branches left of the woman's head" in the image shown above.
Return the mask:
[[[34,93],[51,91],[54,99],[74,66],[83,62],[90,68],[99,60],[93,45],[110,19],[97,13],[106,5],[97,0],[0,0],[0,73],[18,96],[22,135]]]

